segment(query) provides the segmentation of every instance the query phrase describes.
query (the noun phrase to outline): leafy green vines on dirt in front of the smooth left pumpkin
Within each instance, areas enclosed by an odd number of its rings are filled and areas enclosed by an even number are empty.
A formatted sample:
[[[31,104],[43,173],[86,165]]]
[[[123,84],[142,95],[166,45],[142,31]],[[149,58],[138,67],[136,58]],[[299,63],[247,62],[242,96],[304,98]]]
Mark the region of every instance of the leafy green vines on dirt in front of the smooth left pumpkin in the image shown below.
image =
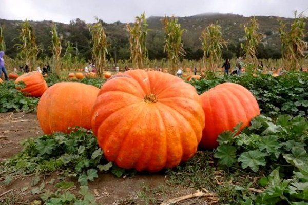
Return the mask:
[[[0,164],[8,184],[18,174],[45,173],[60,171],[64,177],[78,177],[81,185],[87,185],[98,177],[98,171],[110,170],[117,177],[133,175],[135,171],[126,171],[112,166],[104,158],[97,139],[90,132],[78,129],[70,134],[55,133],[43,135],[22,143],[22,152]],[[36,185],[40,178],[34,178]]]

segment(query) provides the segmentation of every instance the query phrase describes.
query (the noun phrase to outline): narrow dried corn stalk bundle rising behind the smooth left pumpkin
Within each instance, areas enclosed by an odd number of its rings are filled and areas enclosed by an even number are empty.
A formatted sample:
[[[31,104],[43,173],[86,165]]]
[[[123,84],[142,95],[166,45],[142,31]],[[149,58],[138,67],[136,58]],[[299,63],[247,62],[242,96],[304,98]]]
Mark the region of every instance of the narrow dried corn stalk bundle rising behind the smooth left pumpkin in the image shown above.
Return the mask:
[[[62,36],[59,37],[57,31],[56,31],[56,25],[52,25],[52,60],[53,60],[53,68],[55,70],[55,73],[58,77],[60,77],[60,70],[61,70],[61,41],[62,41]]]

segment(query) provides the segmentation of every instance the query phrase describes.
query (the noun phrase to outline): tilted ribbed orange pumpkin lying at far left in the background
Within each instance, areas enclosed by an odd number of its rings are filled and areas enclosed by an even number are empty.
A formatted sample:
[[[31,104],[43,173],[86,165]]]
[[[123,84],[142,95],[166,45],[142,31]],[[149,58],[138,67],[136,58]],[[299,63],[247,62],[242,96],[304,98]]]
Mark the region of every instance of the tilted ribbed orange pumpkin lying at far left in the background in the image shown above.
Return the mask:
[[[18,87],[20,82],[25,83],[25,88]],[[15,83],[17,84],[16,89],[21,90],[24,95],[31,97],[41,97],[48,88],[43,75],[38,71],[32,71],[17,77]]]

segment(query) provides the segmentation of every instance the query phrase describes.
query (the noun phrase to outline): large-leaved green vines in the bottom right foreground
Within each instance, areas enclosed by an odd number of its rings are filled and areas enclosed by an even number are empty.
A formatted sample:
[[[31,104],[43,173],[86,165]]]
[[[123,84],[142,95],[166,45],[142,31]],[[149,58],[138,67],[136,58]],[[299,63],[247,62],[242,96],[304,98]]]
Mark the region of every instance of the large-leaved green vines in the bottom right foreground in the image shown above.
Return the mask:
[[[258,116],[235,137],[219,136],[215,157],[222,166],[250,169],[268,175],[259,183],[264,191],[243,204],[297,204],[308,202],[308,121],[301,116]],[[232,152],[230,152],[232,150]],[[249,203],[248,203],[249,201]],[[292,203],[291,203],[292,202]]]

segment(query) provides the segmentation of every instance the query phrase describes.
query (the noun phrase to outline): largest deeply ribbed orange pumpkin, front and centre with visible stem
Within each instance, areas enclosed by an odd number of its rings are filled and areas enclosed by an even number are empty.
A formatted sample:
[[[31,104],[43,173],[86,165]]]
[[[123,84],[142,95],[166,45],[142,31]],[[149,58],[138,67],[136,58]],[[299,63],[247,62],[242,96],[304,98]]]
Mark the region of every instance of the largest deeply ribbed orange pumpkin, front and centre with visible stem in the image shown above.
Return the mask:
[[[130,70],[102,86],[92,130],[105,157],[125,169],[157,172],[197,151],[204,112],[196,90],[163,72]]]

